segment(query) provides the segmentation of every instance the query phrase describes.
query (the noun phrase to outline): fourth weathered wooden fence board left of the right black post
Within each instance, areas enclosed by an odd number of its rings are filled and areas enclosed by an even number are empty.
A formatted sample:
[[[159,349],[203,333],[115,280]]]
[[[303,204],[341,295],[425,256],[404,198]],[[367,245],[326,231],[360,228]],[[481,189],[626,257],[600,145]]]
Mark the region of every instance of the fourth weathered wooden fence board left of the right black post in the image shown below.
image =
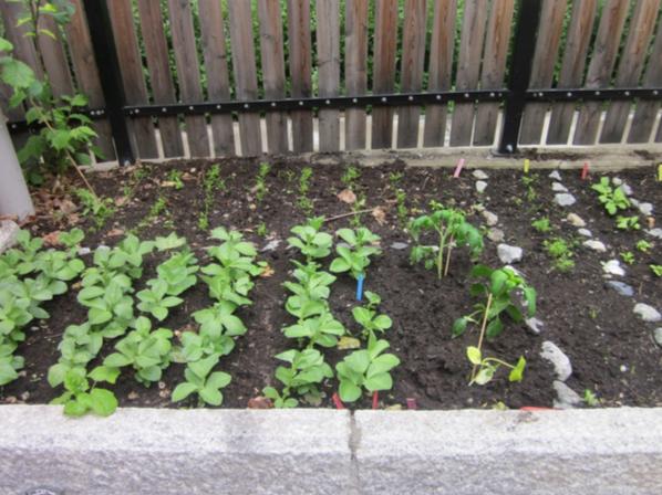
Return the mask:
[[[404,29],[402,35],[402,65],[400,85],[402,92],[420,92],[423,86],[425,63],[425,14],[426,0],[405,0]],[[404,106],[397,109],[397,147],[418,146],[420,106]]]

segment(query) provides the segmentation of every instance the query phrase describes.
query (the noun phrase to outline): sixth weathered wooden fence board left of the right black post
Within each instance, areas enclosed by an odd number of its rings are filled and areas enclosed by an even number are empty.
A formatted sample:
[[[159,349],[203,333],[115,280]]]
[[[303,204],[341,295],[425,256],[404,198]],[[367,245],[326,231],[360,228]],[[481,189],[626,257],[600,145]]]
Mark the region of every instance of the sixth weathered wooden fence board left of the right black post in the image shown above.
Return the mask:
[[[349,96],[368,91],[368,0],[346,0],[345,14],[345,86]],[[363,108],[348,108],[345,149],[364,149],[366,117]]]

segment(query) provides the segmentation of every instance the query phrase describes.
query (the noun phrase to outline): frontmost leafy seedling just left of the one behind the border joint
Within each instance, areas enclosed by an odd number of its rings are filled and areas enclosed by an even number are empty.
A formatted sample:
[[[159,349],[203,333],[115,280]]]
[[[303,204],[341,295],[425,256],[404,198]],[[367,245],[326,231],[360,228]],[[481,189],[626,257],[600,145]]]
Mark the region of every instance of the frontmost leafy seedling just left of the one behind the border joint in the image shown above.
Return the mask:
[[[265,397],[271,399],[276,408],[296,408],[299,401],[290,397],[292,393],[303,397],[310,404],[319,406],[319,385],[325,378],[333,378],[333,370],[324,362],[322,354],[317,349],[287,350],[276,358],[290,366],[279,366],[276,370],[276,378],[283,385],[282,392],[266,387],[262,390]]]

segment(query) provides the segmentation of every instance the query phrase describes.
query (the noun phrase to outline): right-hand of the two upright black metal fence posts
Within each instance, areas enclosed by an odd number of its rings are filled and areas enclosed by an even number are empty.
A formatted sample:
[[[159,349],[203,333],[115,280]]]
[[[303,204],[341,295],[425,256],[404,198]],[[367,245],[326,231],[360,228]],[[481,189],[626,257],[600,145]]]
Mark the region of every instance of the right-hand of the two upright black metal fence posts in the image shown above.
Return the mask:
[[[515,34],[508,81],[509,93],[506,99],[504,129],[499,143],[500,154],[517,152],[521,116],[527,102],[527,89],[531,81],[541,7],[541,0],[519,0],[517,32]]]

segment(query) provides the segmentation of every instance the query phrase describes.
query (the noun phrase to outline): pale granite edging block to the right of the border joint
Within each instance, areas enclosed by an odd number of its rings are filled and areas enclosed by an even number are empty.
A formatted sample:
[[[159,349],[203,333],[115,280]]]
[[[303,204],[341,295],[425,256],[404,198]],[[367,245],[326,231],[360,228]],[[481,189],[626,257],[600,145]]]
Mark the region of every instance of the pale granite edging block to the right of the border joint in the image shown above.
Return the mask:
[[[358,411],[362,494],[660,494],[662,409]]]

